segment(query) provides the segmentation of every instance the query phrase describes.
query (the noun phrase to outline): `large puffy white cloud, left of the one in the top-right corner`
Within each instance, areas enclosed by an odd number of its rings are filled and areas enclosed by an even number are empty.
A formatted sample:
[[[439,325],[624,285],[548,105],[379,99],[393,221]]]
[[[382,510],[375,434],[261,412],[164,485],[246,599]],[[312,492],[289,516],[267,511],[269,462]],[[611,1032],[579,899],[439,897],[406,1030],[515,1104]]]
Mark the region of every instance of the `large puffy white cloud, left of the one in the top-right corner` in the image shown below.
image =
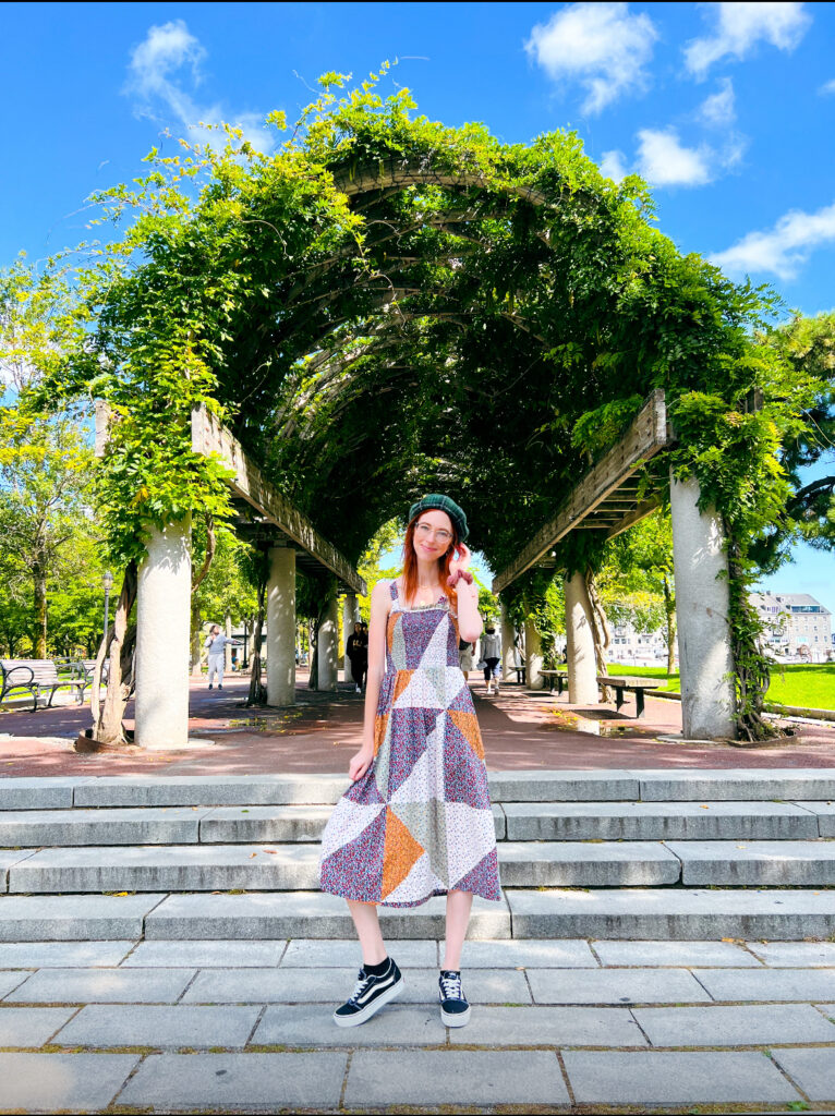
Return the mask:
[[[646,86],[644,67],[656,38],[649,16],[606,0],[560,8],[547,23],[537,23],[525,49],[554,80],[578,81],[586,90],[583,110],[599,113]]]

